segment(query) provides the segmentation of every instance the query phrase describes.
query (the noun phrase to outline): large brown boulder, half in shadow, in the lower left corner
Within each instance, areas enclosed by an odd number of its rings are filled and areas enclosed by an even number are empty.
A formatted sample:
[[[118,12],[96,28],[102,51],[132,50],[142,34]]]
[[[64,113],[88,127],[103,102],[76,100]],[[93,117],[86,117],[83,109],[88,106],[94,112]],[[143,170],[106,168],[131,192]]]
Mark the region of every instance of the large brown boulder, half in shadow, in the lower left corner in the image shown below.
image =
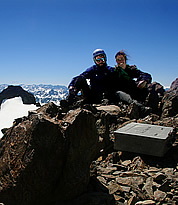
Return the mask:
[[[1,201],[7,205],[48,201],[45,194],[62,173],[64,143],[58,126],[38,115],[6,132],[0,147]]]

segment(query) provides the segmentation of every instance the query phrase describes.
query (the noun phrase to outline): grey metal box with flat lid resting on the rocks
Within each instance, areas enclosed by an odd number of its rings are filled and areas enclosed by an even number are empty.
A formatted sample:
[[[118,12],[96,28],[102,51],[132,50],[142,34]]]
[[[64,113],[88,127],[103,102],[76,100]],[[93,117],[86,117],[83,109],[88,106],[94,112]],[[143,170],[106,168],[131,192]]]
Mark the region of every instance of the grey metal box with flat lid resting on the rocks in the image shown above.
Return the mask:
[[[130,123],[114,132],[114,149],[162,157],[172,146],[174,128]]]

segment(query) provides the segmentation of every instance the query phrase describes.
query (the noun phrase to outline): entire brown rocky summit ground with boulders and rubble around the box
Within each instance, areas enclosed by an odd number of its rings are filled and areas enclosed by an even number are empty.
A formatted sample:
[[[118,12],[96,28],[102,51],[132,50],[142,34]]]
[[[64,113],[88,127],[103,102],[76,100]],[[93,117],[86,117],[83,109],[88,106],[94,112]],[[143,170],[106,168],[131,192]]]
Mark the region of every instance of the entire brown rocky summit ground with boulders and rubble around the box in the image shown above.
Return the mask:
[[[164,94],[159,115],[139,115],[132,104],[48,103],[16,119],[0,141],[0,202],[176,205],[176,92]],[[173,127],[175,141],[163,157],[114,150],[114,131],[130,122]]]

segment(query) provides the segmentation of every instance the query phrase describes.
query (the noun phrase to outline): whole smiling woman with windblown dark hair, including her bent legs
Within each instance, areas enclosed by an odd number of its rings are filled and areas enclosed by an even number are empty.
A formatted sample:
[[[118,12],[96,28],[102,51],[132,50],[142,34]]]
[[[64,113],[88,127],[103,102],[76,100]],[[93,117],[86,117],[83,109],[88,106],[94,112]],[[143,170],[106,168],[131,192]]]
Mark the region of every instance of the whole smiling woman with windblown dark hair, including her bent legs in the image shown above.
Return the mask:
[[[137,69],[135,65],[127,64],[127,55],[119,51],[115,55],[117,65],[111,68],[110,96],[113,103],[124,102],[137,106],[140,116],[146,116],[151,112],[144,102],[148,95],[147,84],[151,83],[150,74]],[[135,80],[136,79],[136,80]]]

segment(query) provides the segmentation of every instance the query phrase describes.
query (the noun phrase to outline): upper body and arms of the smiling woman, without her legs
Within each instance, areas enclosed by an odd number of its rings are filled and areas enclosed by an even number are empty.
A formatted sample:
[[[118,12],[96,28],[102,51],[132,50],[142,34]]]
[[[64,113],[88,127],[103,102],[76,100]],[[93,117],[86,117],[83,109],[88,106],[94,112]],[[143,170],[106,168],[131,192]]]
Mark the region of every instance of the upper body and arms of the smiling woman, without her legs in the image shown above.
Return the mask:
[[[152,81],[151,75],[137,69],[135,65],[128,65],[128,57],[123,50],[116,53],[115,60],[117,65],[113,70],[115,78],[113,87],[117,91],[129,94],[135,100],[145,102],[148,96],[147,85]]]

